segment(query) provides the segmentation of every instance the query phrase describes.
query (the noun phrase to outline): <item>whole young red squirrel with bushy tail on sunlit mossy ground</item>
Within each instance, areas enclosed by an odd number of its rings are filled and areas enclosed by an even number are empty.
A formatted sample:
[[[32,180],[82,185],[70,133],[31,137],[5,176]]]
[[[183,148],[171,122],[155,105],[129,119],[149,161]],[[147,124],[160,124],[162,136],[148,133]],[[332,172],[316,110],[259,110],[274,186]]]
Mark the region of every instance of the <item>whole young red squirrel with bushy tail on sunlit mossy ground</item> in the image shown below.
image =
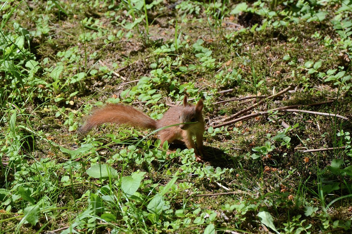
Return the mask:
[[[193,148],[195,150],[196,161],[203,162],[201,155],[204,154],[203,133],[205,131],[205,123],[202,109],[202,99],[199,100],[196,105],[193,105],[187,102],[187,97],[185,96],[183,105],[171,107],[166,111],[162,119],[155,120],[132,106],[108,104],[94,110],[92,114],[87,117],[83,126],[78,129],[78,132],[84,134],[93,127],[103,123],[125,124],[141,129],[153,130],[178,124],[158,132],[161,145],[163,145],[165,141],[171,143],[176,139],[182,139],[188,149]],[[192,139],[193,136],[196,137],[197,148]]]

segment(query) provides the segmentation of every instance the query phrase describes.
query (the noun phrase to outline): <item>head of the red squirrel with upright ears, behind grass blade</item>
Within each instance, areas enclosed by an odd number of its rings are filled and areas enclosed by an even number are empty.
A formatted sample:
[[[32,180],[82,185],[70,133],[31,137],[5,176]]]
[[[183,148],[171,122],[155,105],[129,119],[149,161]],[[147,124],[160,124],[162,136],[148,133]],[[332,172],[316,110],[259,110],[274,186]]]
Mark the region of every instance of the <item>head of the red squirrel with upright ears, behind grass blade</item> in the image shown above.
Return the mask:
[[[192,125],[203,122],[203,100],[200,99],[196,105],[192,105],[187,103],[187,96],[185,95],[183,98],[183,109],[179,116],[180,123],[190,123],[190,124],[180,124],[180,128],[183,130],[187,130],[187,128]]]

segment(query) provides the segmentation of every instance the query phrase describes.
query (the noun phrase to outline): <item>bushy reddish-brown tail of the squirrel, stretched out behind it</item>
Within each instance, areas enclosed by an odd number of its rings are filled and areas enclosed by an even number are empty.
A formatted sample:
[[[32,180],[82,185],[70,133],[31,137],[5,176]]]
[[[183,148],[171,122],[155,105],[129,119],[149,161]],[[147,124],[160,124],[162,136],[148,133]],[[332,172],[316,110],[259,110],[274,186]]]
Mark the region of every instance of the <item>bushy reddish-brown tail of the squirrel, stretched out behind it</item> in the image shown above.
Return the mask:
[[[108,104],[95,109],[92,115],[86,118],[78,132],[84,134],[90,129],[103,123],[126,124],[131,127],[142,129],[157,129],[157,121],[147,116],[132,106],[121,104]]]

